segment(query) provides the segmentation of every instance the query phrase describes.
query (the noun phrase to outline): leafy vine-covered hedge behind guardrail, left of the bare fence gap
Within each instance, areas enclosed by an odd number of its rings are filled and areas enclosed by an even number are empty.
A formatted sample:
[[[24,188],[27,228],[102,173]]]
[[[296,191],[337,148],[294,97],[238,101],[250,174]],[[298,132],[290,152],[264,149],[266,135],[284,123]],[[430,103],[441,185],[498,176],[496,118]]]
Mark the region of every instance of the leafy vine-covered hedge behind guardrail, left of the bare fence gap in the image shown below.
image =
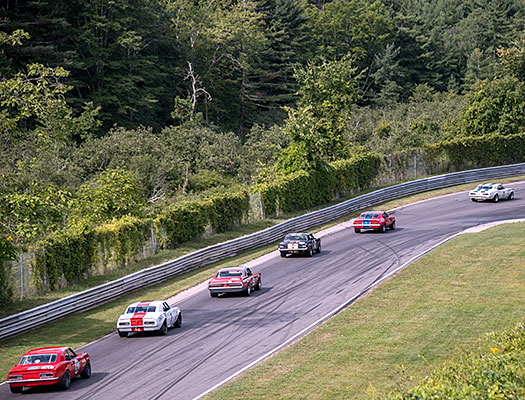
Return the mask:
[[[208,225],[216,232],[226,231],[247,216],[249,204],[246,190],[214,194],[171,205],[155,219],[125,216],[95,228],[56,232],[39,243],[35,282],[41,289],[54,290],[97,268],[104,272],[108,266],[124,267],[150,243],[152,227],[161,248],[198,238]]]

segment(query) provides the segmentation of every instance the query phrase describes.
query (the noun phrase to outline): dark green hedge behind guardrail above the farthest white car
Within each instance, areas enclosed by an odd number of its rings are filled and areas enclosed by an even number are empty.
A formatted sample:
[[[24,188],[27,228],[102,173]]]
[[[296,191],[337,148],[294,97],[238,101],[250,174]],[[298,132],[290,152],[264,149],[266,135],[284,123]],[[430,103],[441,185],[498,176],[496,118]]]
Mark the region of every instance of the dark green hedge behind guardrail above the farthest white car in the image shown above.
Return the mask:
[[[435,160],[445,155],[458,171],[525,160],[525,133],[458,138],[424,147],[425,156]]]

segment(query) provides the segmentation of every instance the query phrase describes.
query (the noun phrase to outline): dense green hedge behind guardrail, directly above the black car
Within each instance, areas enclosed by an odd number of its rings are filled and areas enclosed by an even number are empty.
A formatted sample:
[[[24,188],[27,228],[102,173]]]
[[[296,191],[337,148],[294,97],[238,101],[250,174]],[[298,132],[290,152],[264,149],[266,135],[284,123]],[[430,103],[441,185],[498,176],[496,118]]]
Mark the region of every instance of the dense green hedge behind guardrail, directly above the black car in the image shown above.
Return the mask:
[[[307,209],[368,187],[379,172],[381,156],[363,154],[314,171],[280,176],[258,186],[264,215]]]

